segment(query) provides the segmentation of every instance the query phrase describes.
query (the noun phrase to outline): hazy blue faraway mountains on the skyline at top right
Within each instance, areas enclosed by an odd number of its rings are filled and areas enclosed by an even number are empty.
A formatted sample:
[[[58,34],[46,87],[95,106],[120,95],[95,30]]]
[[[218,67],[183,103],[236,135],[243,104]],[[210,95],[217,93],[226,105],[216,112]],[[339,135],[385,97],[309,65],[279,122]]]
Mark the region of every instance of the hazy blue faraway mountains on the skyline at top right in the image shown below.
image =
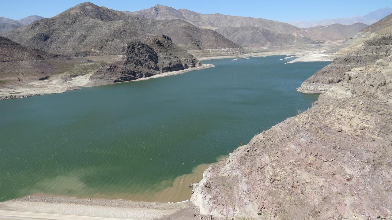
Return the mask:
[[[324,20],[312,20],[312,21],[301,21],[301,22],[288,22],[289,24],[292,24],[296,27],[300,28],[309,28],[309,27],[314,27],[318,25],[331,25],[335,23],[339,23],[342,25],[352,25],[354,23],[364,23],[367,25],[371,25],[372,23],[375,23],[385,16],[389,15],[392,13],[392,8],[383,8],[383,9],[378,9],[376,11],[370,12],[366,15],[363,16],[355,16],[352,18],[335,18],[335,19],[324,19]]]

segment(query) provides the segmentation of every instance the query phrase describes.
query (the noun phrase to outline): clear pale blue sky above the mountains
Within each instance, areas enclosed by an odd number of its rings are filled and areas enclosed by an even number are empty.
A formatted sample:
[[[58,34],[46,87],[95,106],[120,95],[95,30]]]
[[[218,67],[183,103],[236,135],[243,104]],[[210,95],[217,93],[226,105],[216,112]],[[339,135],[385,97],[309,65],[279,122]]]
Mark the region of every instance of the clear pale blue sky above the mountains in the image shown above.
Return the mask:
[[[0,16],[12,19],[29,15],[52,17],[82,2],[85,1],[4,0],[0,3]],[[392,0],[91,0],[90,2],[120,11],[137,11],[161,4],[203,14],[221,13],[282,22],[353,17],[380,8],[392,7]]]

